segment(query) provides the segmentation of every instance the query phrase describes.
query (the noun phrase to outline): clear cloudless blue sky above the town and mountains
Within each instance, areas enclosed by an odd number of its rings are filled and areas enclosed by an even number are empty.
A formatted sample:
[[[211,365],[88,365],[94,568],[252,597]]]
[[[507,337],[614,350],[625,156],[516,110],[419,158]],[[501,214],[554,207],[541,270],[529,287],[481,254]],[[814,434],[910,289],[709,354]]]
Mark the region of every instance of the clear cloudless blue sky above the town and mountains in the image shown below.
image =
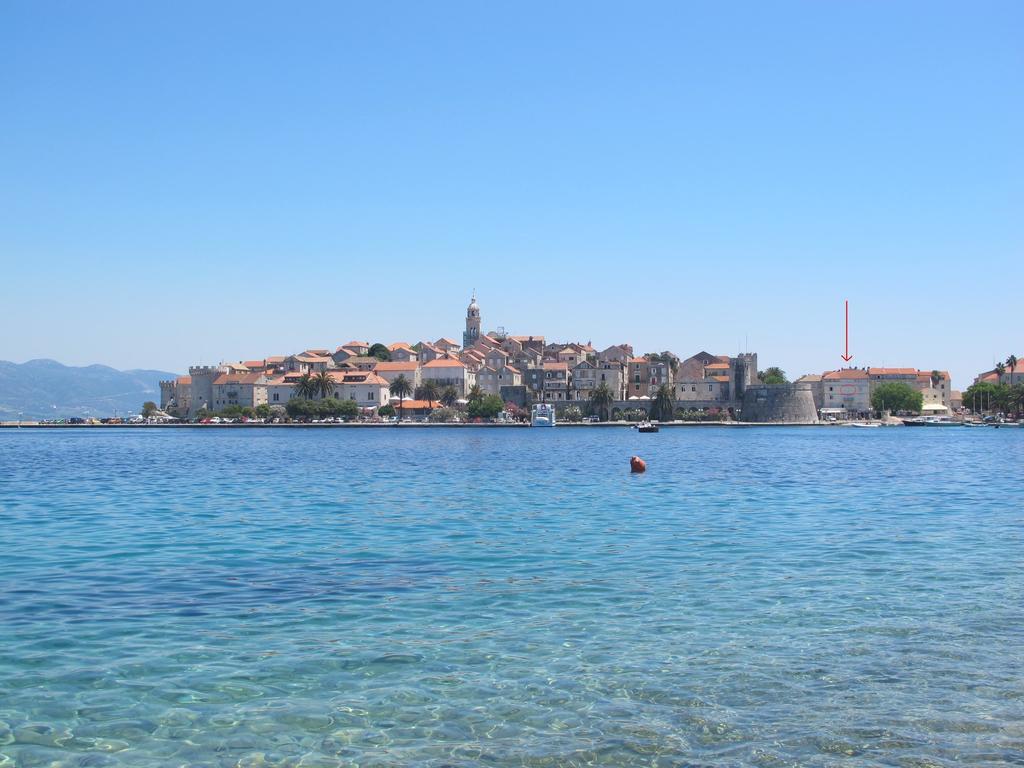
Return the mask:
[[[1024,356],[1024,3],[5,2],[0,358]]]

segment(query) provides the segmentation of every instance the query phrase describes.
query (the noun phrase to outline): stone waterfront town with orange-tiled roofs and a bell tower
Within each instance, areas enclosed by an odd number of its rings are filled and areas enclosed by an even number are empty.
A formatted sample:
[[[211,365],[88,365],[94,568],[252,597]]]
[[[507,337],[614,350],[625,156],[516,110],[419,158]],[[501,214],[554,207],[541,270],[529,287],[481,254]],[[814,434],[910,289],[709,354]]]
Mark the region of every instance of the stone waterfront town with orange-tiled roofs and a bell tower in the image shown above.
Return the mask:
[[[350,415],[376,417],[398,406],[418,417],[435,418],[438,402],[475,408],[489,397],[486,408],[496,414],[541,402],[579,409],[580,418],[585,411],[594,412],[602,420],[639,409],[659,419],[695,413],[734,418],[742,413],[755,422],[814,423],[819,418],[867,418],[885,410],[887,398],[901,403],[899,410],[933,414],[958,412],[963,404],[961,390],[941,365],[848,365],[790,381],[779,367],[759,360],[756,351],[730,355],[703,347],[688,356],[673,350],[640,353],[629,342],[600,348],[589,340],[483,329],[474,290],[460,340],[444,336],[385,345],[352,339],[333,349],[198,364],[186,375],[161,381],[159,409],[150,402],[147,413],[204,420],[240,409],[264,416],[276,409],[279,416],[310,416],[316,409],[333,413],[345,403]],[[843,358],[849,362],[849,355]],[[979,372],[976,381],[1018,383],[1024,361],[1010,354],[1006,362],[1007,368],[1000,362],[994,371]],[[1011,403],[1010,390],[1005,394]],[[443,410],[436,414],[447,416]]]

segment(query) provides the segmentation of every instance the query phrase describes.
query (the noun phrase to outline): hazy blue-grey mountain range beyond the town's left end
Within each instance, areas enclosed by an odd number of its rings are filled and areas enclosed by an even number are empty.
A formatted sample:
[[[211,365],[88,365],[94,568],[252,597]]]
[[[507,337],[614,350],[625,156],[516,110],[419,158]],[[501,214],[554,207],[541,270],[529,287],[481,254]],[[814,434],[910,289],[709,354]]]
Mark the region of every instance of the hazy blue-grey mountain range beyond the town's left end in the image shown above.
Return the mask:
[[[0,421],[70,416],[137,414],[145,400],[160,404],[167,371],[118,371],[106,366],[74,368],[56,360],[0,360]]]

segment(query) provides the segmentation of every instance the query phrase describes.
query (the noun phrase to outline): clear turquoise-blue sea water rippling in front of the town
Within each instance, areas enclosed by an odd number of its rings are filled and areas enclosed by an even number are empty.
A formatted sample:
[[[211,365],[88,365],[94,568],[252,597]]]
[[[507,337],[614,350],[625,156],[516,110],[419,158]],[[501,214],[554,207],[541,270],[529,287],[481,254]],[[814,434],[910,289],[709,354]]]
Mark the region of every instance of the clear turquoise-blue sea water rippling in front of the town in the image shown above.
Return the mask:
[[[3,430],[0,766],[1020,764],[1022,565],[1024,430]]]

